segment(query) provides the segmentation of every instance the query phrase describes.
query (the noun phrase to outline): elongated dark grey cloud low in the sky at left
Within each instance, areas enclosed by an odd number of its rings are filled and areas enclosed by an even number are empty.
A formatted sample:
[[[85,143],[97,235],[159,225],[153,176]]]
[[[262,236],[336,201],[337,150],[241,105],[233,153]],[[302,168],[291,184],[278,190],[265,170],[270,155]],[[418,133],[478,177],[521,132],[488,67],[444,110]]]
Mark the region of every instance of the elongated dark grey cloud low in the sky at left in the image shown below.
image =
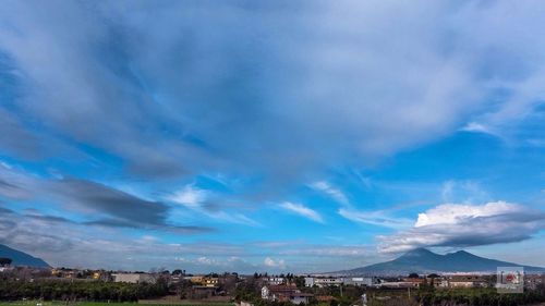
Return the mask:
[[[205,233],[210,228],[171,224],[170,207],[140,198],[113,187],[78,179],[44,179],[26,172],[0,168],[0,196],[12,201],[52,201],[66,212],[82,216],[82,223],[159,230],[175,233]],[[55,206],[52,206],[56,208]]]

